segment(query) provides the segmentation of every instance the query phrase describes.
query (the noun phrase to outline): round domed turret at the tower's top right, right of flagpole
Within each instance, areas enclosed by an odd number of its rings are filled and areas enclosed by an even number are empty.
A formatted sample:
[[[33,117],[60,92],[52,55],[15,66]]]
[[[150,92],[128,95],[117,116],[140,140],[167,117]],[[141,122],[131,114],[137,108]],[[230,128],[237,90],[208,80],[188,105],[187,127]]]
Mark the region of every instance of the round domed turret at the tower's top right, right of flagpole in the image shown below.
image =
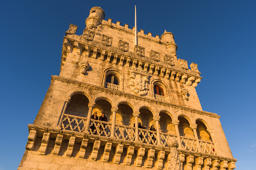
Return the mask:
[[[161,35],[160,39],[164,42],[166,42],[167,49],[170,50],[171,53],[174,53],[176,55],[177,45],[174,41],[174,35],[171,32],[165,32]]]

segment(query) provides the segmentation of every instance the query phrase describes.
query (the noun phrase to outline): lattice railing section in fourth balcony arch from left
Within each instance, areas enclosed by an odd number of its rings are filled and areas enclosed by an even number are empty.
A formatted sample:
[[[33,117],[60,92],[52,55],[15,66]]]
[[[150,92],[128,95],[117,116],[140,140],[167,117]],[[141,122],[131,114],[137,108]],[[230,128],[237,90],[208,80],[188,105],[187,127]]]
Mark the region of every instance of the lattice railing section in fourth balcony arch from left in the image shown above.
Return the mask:
[[[156,132],[139,128],[139,141],[147,144],[157,144]]]

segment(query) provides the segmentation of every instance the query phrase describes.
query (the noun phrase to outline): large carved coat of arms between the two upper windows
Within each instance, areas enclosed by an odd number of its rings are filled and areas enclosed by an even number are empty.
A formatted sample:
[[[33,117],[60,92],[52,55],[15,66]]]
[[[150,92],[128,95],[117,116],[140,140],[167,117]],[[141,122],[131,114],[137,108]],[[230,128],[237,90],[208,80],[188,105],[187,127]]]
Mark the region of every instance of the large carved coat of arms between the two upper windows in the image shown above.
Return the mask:
[[[130,68],[130,89],[133,93],[144,96],[148,90],[148,73]]]

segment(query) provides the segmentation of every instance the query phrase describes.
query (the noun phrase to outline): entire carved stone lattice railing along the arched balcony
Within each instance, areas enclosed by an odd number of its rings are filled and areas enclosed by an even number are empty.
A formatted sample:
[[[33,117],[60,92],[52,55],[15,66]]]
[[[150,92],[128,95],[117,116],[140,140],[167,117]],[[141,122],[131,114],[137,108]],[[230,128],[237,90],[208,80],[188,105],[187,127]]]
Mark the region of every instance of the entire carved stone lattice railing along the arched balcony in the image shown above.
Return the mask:
[[[64,114],[63,121],[61,122],[61,129],[72,130],[76,132],[83,132],[86,125],[86,120],[87,118],[84,118],[84,117]],[[90,126],[89,126],[89,133],[110,137],[111,125],[112,123],[109,123],[109,122],[91,119]],[[142,143],[156,145],[157,144],[156,134],[157,133],[155,131],[139,128],[139,141]],[[117,139],[134,141],[135,127],[115,124],[115,137]],[[170,138],[176,139],[176,137],[177,135],[160,133],[160,143],[163,146],[168,146],[167,141]],[[188,138],[188,137],[181,136],[182,149],[216,155],[217,151],[216,151],[214,142],[199,140],[199,144],[200,146],[198,146],[197,139],[195,138]]]

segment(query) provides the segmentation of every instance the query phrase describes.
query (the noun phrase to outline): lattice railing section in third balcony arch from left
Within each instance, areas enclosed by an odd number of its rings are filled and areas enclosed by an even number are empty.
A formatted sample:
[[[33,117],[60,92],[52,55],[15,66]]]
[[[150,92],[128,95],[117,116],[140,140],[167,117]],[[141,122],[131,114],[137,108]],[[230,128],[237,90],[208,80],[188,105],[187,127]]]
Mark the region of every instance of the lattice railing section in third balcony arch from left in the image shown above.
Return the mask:
[[[135,127],[115,124],[115,137],[117,139],[134,141]]]

